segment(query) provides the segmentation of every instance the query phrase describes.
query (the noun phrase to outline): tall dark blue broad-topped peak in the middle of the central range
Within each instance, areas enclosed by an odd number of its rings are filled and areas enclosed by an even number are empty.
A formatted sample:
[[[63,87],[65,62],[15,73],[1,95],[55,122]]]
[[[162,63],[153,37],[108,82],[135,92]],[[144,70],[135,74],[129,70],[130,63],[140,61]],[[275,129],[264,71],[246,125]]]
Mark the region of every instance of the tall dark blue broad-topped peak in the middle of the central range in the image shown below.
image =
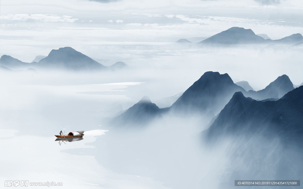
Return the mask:
[[[246,92],[236,85],[227,73],[205,72],[180,96],[170,109],[180,113],[218,114],[235,92]]]

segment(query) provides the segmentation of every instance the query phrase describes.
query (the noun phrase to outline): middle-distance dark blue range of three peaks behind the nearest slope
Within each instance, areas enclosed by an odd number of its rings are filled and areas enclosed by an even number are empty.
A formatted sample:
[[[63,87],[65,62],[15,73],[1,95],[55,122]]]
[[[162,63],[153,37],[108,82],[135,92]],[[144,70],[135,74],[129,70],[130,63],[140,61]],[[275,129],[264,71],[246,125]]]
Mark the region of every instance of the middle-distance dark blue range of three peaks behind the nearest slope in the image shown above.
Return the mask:
[[[286,75],[278,77],[265,89],[246,91],[236,85],[227,73],[205,72],[199,80],[190,86],[175,103],[168,108],[159,108],[150,99],[140,100],[125,113],[113,118],[115,125],[144,125],[160,114],[170,113],[173,116],[201,116],[209,122],[230,101],[236,92],[256,100],[276,101],[294,86]],[[150,114],[150,115],[149,115]]]

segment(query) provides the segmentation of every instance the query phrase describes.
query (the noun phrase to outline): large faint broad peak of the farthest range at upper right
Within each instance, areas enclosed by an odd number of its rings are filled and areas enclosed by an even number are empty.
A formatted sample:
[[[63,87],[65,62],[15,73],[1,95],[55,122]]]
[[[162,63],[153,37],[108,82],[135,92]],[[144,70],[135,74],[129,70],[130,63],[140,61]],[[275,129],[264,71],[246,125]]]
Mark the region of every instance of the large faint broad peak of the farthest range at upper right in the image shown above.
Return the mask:
[[[265,39],[256,35],[251,29],[232,27],[215,34],[199,43],[202,44],[251,44],[265,43]]]

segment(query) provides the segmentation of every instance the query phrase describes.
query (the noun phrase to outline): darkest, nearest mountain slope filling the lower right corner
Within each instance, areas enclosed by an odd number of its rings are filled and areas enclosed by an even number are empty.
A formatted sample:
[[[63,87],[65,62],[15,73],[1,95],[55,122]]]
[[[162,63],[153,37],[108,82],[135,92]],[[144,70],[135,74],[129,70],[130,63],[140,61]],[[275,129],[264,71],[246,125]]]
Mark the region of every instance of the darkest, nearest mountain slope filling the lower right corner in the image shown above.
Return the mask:
[[[228,184],[235,178],[302,178],[303,86],[277,101],[252,101],[237,93],[201,134],[209,145],[231,141],[226,170],[233,171],[221,175]]]

